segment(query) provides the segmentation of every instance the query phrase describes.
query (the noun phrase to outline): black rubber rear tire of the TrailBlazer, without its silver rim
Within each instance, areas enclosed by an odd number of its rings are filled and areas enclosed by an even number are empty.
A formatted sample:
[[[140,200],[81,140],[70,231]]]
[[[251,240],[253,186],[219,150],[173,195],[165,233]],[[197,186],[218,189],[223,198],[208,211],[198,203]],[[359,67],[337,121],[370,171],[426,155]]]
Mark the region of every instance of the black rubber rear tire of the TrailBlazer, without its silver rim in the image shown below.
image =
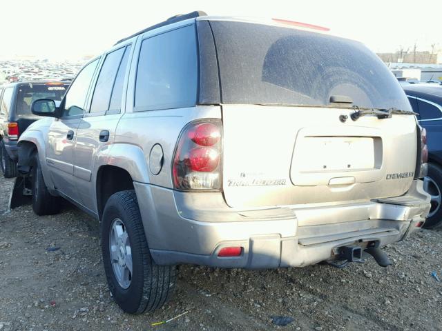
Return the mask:
[[[114,221],[124,225],[131,245],[133,273],[128,288],[115,277],[111,261],[110,236]],[[135,191],[113,194],[102,217],[102,253],[109,289],[120,308],[129,314],[141,314],[161,308],[175,288],[175,265],[157,265],[149,252]]]

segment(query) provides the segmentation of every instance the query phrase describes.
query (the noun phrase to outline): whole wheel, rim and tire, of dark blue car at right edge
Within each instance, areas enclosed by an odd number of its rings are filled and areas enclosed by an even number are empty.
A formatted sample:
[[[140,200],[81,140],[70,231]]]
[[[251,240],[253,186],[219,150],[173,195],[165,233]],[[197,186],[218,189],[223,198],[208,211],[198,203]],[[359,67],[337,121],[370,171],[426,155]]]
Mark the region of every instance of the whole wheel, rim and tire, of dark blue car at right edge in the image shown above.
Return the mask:
[[[424,228],[436,228],[442,225],[442,168],[436,163],[428,163],[428,173],[423,179],[424,190],[431,195],[431,209]]]

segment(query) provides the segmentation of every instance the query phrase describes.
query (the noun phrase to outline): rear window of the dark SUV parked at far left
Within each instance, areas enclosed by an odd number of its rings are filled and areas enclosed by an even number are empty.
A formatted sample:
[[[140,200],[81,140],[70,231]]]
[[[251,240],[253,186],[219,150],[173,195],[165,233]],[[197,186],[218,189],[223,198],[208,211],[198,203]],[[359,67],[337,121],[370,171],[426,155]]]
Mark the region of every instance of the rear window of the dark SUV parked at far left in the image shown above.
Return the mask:
[[[60,101],[68,84],[34,84],[28,83],[19,87],[17,93],[17,105],[15,107],[17,115],[30,115],[30,105],[32,101],[38,99],[52,99]]]

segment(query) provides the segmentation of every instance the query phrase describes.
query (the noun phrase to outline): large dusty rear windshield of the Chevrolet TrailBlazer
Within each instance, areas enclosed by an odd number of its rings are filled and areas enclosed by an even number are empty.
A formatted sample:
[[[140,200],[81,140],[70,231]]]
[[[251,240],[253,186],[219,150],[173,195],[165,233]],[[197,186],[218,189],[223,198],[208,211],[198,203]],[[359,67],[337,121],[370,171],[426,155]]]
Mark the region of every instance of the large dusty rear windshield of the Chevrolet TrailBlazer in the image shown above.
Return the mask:
[[[359,108],[411,110],[405,93],[362,43],[315,32],[211,21],[223,103],[331,106],[332,95]]]

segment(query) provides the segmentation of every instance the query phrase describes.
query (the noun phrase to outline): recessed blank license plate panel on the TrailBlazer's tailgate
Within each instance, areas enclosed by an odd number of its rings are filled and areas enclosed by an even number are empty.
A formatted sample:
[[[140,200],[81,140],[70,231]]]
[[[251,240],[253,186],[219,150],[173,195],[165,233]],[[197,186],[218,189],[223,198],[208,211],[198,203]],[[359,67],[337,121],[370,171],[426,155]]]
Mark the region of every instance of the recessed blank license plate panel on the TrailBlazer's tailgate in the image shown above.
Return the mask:
[[[290,170],[294,185],[336,185],[337,181],[348,186],[383,178],[382,137],[311,133],[301,130],[295,142]]]

